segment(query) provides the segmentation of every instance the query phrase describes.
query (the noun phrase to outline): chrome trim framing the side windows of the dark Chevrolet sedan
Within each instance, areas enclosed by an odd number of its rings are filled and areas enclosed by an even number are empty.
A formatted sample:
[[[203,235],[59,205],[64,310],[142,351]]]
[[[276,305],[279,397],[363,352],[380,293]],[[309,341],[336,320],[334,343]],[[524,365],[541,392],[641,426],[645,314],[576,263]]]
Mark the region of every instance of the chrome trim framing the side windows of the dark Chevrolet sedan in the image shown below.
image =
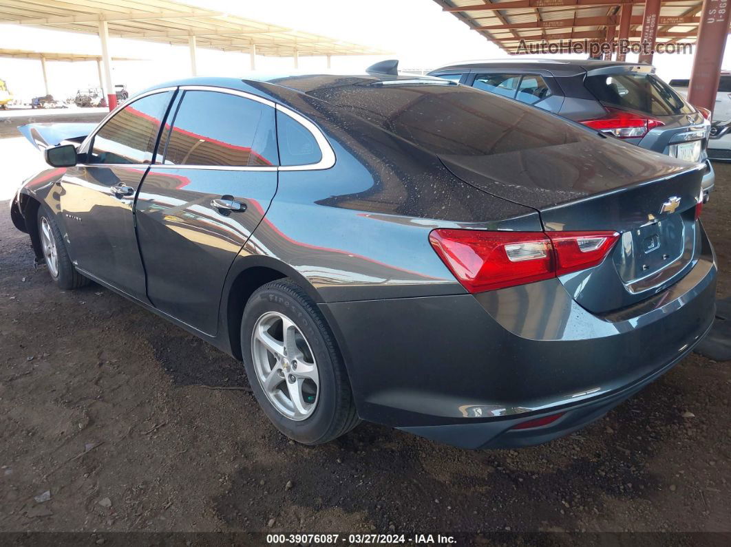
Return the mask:
[[[330,167],[333,167],[335,165],[335,151],[330,146],[330,142],[327,141],[325,138],[325,135],[322,134],[322,131],[320,131],[319,127],[317,127],[314,123],[309,121],[307,118],[305,118],[303,115],[298,114],[298,112],[295,112],[294,110],[291,110],[287,107],[282,106],[279,103],[275,103],[273,101],[270,101],[269,99],[264,99],[263,97],[254,95],[253,93],[247,93],[246,91],[238,91],[238,89],[231,89],[231,88],[221,88],[217,87],[216,85],[179,85],[174,87],[167,87],[167,88],[158,88],[158,89],[152,89],[150,91],[145,91],[145,93],[140,93],[140,95],[134,96],[131,99],[128,99],[124,104],[120,104],[118,107],[116,107],[112,112],[110,112],[101,122],[99,122],[99,126],[96,126],[96,129],[91,132],[91,134],[86,137],[84,142],[81,144],[79,150],[84,150],[86,146],[91,142],[92,139],[96,136],[97,131],[99,129],[102,129],[102,127],[109,121],[113,116],[122,110],[124,107],[126,107],[128,104],[132,104],[133,102],[137,101],[137,99],[143,99],[143,97],[154,95],[156,93],[165,93],[167,91],[175,91],[175,90],[181,90],[181,91],[211,91],[214,93],[227,93],[228,95],[235,95],[243,97],[244,99],[251,99],[252,101],[260,102],[261,104],[265,104],[268,107],[272,107],[275,110],[279,110],[279,112],[282,112],[285,115],[288,115],[289,118],[292,118],[294,121],[299,123],[301,126],[303,126],[305,129],[307,129],[312,136],[315,139],[315,142],[317,142],[317,145],[320,149],[320,153],[322,155],[322,158],[320,158],[320,161],[318,161],[316,164],[304,164],[304,165],[279,165],[279,166],[256,166],[256,165],[242,165],[242,166],[228,166],[228,165],[170,165],[170,164],[77,164],[77,167],[144,167],[147,169],[148,167],[154,167],[154,168],[162,168],[162,169],[214,169],[218,171],[317,171],[321,169],[330,169]]]

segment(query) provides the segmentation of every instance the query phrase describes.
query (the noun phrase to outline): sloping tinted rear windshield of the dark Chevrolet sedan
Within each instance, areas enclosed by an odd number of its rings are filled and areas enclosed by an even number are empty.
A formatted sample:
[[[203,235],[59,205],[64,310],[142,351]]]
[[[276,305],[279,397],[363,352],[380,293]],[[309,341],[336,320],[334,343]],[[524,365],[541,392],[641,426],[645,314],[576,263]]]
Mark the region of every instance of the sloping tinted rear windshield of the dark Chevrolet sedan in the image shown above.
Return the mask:
[[[561,118],[462,85],[346,85],[309,94],[439,155],[489,156],[590,138]]]

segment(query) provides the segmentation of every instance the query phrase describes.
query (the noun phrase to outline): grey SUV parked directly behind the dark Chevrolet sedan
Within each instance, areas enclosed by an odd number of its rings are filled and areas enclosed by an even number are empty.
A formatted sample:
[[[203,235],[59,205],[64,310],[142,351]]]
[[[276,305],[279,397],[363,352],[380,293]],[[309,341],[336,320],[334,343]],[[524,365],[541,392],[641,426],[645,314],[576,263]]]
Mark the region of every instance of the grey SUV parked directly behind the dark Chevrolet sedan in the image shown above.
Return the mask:
[[[618,61],[510,59],[470,61],[429,74],[531,104],[597,131],[705,165],[703,191],[715,175],[706,147],[708,111],[692,106],[655,75],[654,66]]]

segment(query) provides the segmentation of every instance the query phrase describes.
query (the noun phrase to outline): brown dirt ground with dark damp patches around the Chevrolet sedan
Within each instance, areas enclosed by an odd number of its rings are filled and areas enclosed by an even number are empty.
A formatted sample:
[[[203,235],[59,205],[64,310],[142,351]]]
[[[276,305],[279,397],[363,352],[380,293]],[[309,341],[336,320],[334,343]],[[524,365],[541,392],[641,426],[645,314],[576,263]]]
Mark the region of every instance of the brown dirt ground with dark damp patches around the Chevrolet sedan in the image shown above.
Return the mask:
[[[703,219],[729,297],[731,165],[715,167]],[[270,426],[240,363],[104,288],[58,290],[7,206],[0,531],[731,532],[729,362],[692,354],[535,448],[373,424],[306,448]]]

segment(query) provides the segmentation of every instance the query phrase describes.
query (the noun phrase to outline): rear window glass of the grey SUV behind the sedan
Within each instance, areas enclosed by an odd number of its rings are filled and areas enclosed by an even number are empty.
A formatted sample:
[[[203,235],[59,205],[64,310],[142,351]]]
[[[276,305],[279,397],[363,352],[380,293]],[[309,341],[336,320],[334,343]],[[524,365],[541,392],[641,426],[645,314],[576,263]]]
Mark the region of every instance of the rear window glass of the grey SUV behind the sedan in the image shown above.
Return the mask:
[[[639,110],[656,116],[691,114],[695,110],[654,74],[601,74],[587,76],[586,88],[603,104]]]

